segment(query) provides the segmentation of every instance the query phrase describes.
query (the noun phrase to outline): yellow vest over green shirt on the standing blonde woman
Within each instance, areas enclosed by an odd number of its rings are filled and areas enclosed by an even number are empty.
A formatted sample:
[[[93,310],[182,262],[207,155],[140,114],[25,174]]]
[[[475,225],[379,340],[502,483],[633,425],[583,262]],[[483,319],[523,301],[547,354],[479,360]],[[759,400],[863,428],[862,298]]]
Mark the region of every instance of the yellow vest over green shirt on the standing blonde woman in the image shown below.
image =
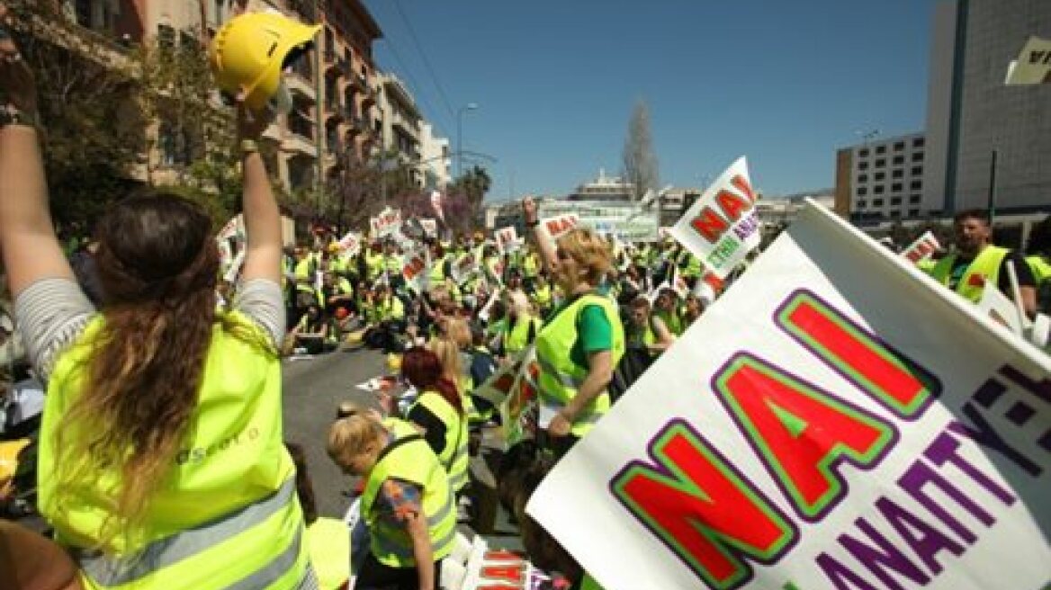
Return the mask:
[[[588,367],[573,362],[573,345],[577,341],[577,319],[585,305],[598,305],[610,321],[613,336],[611,366],[617,366],[624,356],[624,326],[614,303],[602,295],[589,293],[561,310],[540,330],[536,337],[536,360],[540,366],[537,389],[540,403],[548,409],[561,410],[577,395],[588,378]],[[610,395],[599,394],[581,408],[571,431],[583,437],[610,408]]]

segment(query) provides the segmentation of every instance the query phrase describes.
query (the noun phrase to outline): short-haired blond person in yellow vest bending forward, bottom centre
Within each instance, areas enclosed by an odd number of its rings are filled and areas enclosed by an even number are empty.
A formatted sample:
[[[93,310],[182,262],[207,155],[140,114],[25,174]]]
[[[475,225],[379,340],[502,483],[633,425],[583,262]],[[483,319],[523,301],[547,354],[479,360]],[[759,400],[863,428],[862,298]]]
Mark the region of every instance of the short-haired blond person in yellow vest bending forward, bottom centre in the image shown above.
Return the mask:
[[[456,510],[449,476],[419,430],[355,409],[329,429],[328,454],[345,473],[365,480],[369,554],[354,588],[440,588],[440,562],[455,546]]]

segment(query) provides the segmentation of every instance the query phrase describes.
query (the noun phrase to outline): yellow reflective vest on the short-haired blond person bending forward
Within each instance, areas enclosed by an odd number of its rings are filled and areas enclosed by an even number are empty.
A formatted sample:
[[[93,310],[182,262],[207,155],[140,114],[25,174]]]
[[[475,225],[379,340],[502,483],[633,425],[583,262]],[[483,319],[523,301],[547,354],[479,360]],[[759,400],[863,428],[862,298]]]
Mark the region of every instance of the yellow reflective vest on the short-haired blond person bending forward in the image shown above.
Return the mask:
[[[406,437],[418,436],[415,426],[401,420],[384,420],[384,426],[394,436],[394,441],[389,444],[395,444]],[[418,439],[390,450],[369,472],[362,494],[362,513],[369,525],[373,556],[391,567],[416,565],[408,531],[404,527],[386,524],[373,509],[379,487],[391,478],[423,488],[421,503],[427,515],[434,561],[449,555],[456,540],[456,510],[449,476],[427,442]]]

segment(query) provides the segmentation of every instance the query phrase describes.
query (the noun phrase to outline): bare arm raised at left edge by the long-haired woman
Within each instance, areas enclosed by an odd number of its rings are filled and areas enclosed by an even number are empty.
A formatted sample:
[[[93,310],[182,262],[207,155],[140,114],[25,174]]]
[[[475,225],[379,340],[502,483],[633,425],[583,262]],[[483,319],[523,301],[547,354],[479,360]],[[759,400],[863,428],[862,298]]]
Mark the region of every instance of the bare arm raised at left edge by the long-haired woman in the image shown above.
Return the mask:
[[[0,249],[12,295],[41,278],[75,280],[55,236],[35,124],[37,89],[0,4]]]

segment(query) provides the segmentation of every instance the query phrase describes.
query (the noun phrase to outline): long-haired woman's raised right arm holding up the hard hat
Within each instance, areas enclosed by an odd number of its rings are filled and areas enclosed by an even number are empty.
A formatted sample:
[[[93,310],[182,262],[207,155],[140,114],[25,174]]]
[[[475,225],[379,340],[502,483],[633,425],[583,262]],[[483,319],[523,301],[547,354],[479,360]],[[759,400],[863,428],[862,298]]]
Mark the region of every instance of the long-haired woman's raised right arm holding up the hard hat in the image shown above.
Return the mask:
[[[244,217],[247,245],[243,280],[263,278],[281,283],[281,211],[270,189],[266,165],[259,152],[259,140],[270,119],[238,106],[238,132],[243,153]]]

